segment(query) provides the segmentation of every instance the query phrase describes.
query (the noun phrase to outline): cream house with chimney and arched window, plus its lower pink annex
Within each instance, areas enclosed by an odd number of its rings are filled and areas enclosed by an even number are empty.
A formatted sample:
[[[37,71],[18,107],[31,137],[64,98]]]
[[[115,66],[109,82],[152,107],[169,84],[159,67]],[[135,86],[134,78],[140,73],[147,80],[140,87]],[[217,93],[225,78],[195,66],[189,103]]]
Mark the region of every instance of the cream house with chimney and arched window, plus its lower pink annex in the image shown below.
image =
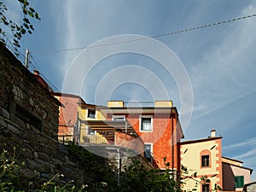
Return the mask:
[[[215,130],[210,137],[181,143],[181,165],[189,171],[183,185],[187,192],[209,192],[218,187],[223,191],[242,191],[253,172],[243,167],[240,160],[222,156],[222,137],[216,137]]]

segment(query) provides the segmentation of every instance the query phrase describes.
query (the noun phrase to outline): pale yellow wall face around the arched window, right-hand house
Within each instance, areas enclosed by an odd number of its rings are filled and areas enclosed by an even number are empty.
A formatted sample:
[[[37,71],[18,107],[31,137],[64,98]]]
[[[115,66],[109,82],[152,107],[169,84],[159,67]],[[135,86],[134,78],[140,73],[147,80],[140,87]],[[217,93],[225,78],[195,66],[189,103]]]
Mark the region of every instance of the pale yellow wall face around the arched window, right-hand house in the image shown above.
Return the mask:
[[[212,148],[214,145],[216,145],[215,148]],[[212,148],[212,150],[210,150]],[[201,191],[201,181],[200,177],[202,175],[214,175],[219,174],[219,171],[217,170],[218,164],[216,163],[217,160],[219,160],[219,152],[216,149],[218,148],[218,143],[216,143],[216,140],[211,140],[207,142],[201,142],[201,143],[189,143],[189,144],[183,144],[181,146],[181,165],[186,166],[189,170],[189,175],[192,175],[194,172],[197,172],[197,176],[199,177],[193,177],[185,179],[185,185],[183,189],[186,191],[192,191],[192,189],[196,189],[196,191]],[[201,151],[207,149],[211,152],[211,167],[203,167],[201,168]],[[187,150],[185,152],[185,150]],[[185,154],[184,154],[185,152]],[[197,181],[195,181],[197,180]],[[211,177],[211,189],[214,188],[214,184],[219,182],[218,177]]]

